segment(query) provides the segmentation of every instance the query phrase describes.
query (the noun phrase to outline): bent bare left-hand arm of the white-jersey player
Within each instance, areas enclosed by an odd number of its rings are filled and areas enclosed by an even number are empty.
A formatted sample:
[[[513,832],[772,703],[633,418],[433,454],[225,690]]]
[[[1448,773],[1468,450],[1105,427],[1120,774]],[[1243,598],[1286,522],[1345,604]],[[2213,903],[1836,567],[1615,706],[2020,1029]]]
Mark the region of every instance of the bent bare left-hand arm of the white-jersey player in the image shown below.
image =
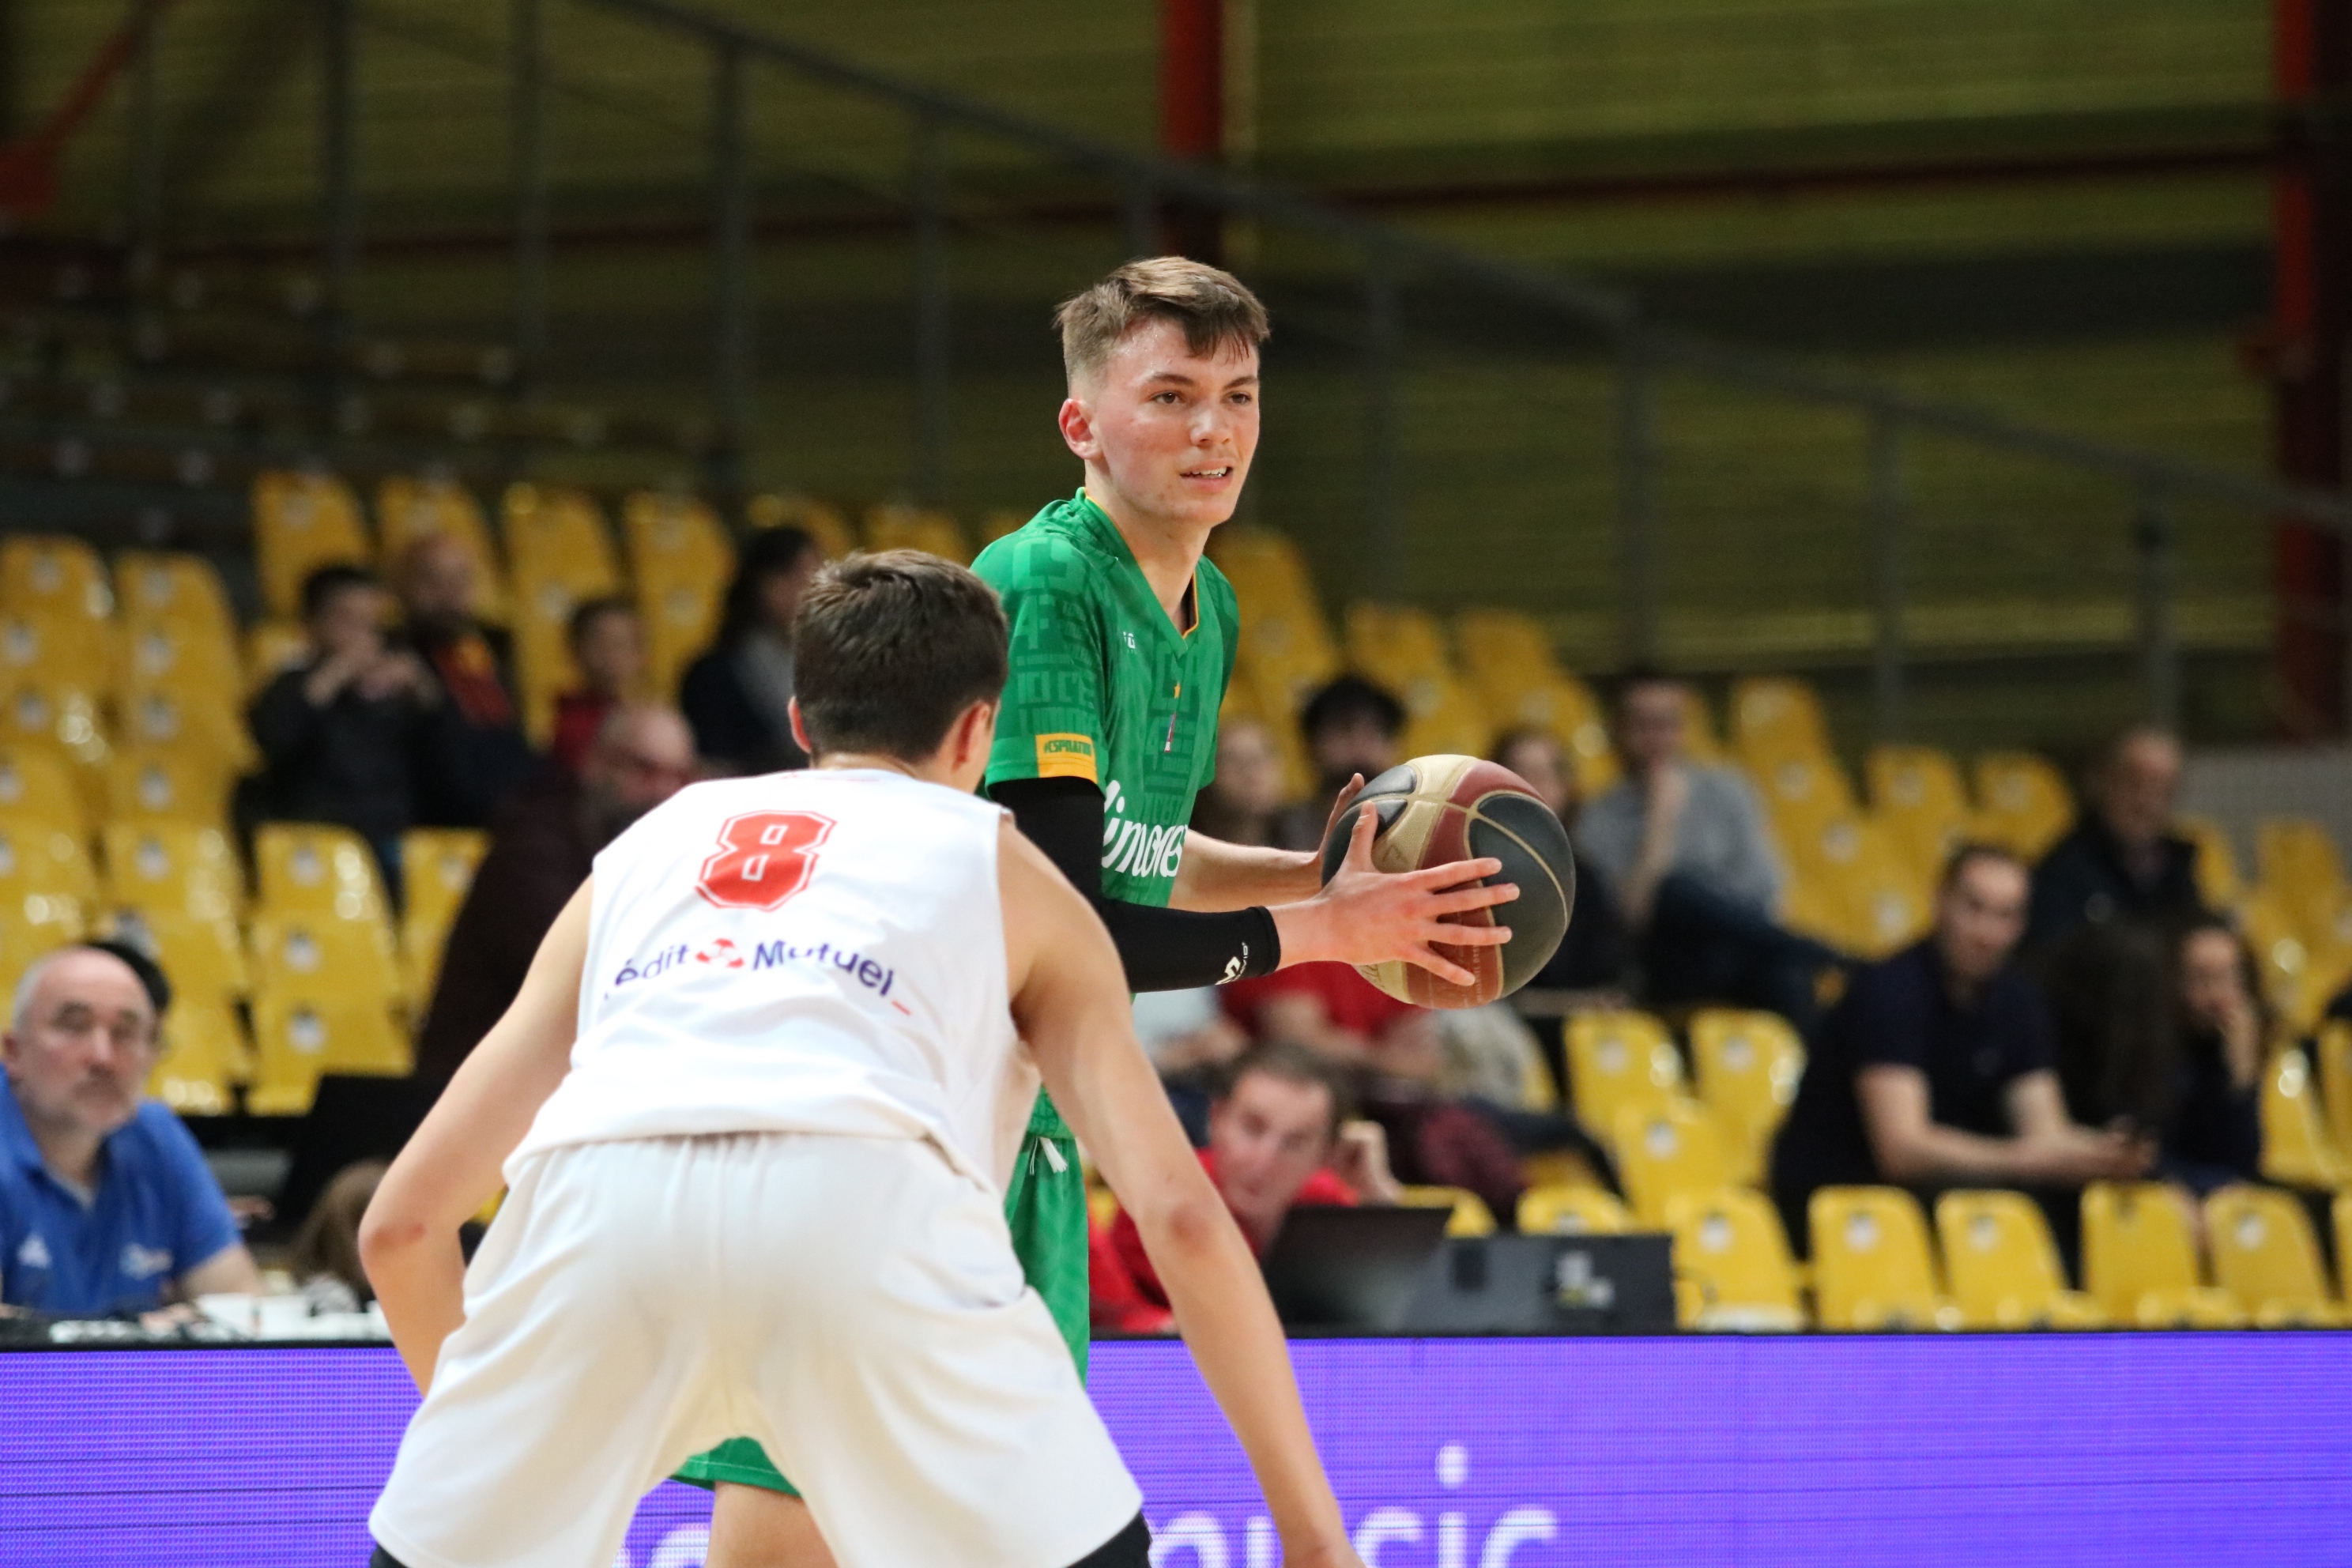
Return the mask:
[[[416,1389],[466,1319],[459,1227],[496,1197],[499,1168],[564,1077],[579,1032],[590,884],[555,919],[522,992],[449,1079],[360,1222],[360,1260]]]

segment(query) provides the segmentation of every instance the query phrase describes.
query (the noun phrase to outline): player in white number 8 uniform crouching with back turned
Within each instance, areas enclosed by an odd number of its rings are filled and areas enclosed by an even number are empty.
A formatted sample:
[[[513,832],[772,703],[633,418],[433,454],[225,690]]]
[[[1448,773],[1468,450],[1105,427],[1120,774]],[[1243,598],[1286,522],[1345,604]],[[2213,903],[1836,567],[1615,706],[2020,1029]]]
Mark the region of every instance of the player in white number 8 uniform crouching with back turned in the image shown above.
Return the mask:
[[[797,632],[816,766],[694,785],[597,856],[362,1225],[426,1392],[379,1568],[609,1563],[637,1497],[734,1434],[807,1481],[844,1568],[1141,1568],[1141,1493],[1002,1215],[1040,1074],[1136,1215],[1284,1561],[1359,1568],[1110,938],[974,797],[1004,658],[962,567],[851,557]]]

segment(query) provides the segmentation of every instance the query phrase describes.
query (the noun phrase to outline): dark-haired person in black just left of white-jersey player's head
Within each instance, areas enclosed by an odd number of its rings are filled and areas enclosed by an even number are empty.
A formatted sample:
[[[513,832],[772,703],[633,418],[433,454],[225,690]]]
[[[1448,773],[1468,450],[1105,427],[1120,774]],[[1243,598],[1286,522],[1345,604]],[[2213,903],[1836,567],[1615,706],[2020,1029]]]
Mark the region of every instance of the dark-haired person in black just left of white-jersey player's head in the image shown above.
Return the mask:
[[[743,541],[720,632],[687,665],[677,708],[703,757],[731,773],[809,766],[793,741],[793,616],[826,552],[800,529],[762,529]]]

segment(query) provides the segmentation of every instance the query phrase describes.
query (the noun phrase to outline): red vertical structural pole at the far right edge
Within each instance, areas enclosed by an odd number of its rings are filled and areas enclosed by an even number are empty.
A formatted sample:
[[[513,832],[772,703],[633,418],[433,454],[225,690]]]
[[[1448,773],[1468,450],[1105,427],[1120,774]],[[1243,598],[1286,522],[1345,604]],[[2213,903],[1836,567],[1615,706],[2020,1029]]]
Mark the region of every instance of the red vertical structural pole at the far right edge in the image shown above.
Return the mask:
[[[2272,0],[2284,158],[2272,188],[2272,430],[2279,475],[2345,484],[2352,331],[2352,5]],[[2272,529],[2274,672],[2291,738],[2345,729],[2345,548],[2303,522]]]

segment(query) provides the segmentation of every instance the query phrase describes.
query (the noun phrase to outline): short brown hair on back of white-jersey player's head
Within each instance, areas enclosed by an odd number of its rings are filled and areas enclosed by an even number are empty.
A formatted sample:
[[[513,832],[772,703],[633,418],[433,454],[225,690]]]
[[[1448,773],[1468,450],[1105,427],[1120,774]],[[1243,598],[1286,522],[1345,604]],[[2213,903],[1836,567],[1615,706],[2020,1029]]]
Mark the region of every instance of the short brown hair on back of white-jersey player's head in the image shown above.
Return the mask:
[[[995,590],[922,550],[826,567],[793,618],[793,696],[818,755],[929,757],[955,715],[1004,693],[1004,672]]]

